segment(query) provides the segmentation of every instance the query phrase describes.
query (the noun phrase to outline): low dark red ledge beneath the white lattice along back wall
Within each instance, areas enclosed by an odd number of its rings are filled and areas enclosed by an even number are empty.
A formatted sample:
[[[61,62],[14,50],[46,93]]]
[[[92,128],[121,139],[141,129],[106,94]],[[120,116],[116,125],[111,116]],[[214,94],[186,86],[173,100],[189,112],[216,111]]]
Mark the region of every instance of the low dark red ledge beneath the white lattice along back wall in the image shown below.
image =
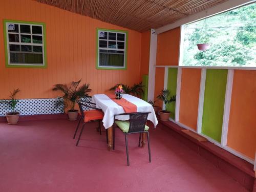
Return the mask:
[[[45,114],[45,115],[20,115],[19,121],[33,121],[46,119],[68,119],[67,114]],[[7,122],[6,117],[0,117],[0,122]]]

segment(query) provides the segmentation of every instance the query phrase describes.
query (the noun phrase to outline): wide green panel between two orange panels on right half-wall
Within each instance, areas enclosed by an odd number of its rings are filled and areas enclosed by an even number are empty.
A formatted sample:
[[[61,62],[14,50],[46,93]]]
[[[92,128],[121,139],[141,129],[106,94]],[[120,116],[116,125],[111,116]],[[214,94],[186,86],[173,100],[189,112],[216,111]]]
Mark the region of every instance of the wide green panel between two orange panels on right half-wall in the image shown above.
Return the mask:
[[[221,142],[226,84],[227,70],[207,69],[202,133],[218,142]]]

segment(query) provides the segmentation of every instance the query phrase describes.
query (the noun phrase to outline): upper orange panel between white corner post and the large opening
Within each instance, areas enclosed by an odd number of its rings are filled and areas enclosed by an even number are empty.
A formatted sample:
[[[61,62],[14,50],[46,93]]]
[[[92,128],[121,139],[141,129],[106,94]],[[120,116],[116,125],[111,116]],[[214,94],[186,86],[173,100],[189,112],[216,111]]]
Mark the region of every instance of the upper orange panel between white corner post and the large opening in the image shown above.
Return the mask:
[[[178,66],[180,28],[175,28],[157,36],[157,66]]]

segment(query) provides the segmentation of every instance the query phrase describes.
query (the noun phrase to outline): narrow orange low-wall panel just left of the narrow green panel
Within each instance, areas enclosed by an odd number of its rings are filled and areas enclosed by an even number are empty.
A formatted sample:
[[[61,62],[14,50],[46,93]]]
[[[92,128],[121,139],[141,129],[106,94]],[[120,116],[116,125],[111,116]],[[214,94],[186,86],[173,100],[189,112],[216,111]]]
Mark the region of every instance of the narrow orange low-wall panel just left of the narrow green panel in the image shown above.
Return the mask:
[[[160,94],[164,88],[164,68],[156,68],[156,79],[155,79],[155,99],[157,100],[156,105],[162,108],[163,102],[159,101],[156,97]]]

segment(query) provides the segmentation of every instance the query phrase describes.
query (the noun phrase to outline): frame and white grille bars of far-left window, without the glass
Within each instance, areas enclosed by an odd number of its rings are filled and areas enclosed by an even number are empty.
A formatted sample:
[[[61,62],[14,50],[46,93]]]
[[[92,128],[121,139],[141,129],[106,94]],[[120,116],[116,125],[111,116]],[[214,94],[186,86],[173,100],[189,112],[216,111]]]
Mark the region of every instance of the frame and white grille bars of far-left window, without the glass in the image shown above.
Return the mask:
[[[8,32],[8,24],[14,24],[14,25],[18,25],[19,26],[19,31],[18,32]],[[6,43],[7,43],[7,56],[8,56],[8,66],[15,66],[15,67],[26,67],[26,66],[31,66],[31,67],[46,67],[46,61],[45,61],[45,31],[44,31],[44,25],[41,24],[31,24],[30,22],[28,23],[19,23],[19,22],[9,22],[7,21],[5,23],[6,25]],[[30,26],[30,33],[21,33],[20,32],[20,25],[27,25]],[[32,31],[32,26],[39,26],[42,29],[42,34],[33,34]],[[18,34],[19,36],[19,41],[20,42],[9,42],[9,34]],[[20,35],[30,35],[31,38],[31,42],[27,43],[27,42],[21,42],[21,38]],[[42,44],[35,44],[33,43],[33,35],[35,36],[41,36],[42,37]],[[29,45],[31,46],[32,50],[33,50],[33,46],[40,46],[42,47],[42,52],[23,52],[23,51],[17,51],[17,53],[33,53],[33,54],[42,54],[42,63],[11,63],[11,59],[10,59],[10,45]],[[21,47],[20,47],[21,48]],[[13,53],[15,53],[15,51],[12,51]]]

